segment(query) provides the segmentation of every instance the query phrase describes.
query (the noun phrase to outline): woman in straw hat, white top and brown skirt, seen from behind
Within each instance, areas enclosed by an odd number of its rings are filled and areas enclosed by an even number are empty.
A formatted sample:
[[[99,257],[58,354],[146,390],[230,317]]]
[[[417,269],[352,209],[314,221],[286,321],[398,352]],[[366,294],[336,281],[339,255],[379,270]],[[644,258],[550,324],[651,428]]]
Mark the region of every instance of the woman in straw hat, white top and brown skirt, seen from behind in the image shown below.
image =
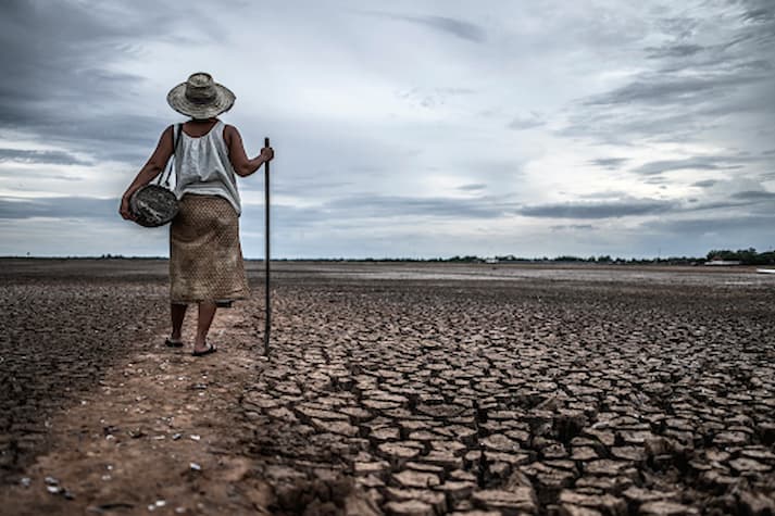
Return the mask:
[[[164,169],[174,152],[179,212],[170,227],[172,335],[165,343],[183,347],[186,309],[197,303],[195,356],[216,351],[207,338],[217,305],[250,293],[239,243],[241,205],[235,175],[247,177],[274,158],[267,147],[249,159],[239,131],[217,118],[232,109],[234,100],[234,93],[207,73],[193,74],[174,87],[167,103],[191,119],[162,133],[155,151],[121,201],[121,215],[134,219],[129,198]]]

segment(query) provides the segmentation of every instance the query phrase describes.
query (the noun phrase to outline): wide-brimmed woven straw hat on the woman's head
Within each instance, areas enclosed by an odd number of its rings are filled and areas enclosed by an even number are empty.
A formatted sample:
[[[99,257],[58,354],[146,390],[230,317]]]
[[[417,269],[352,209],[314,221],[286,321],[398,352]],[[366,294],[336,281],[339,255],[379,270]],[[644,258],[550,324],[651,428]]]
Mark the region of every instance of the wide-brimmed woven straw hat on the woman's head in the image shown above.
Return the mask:
[[[170,106],[193,118],[211,118],[232,109],[235,96],[230,89],[213,80],[213,76],[198,72],[175,86],[166,96]]]

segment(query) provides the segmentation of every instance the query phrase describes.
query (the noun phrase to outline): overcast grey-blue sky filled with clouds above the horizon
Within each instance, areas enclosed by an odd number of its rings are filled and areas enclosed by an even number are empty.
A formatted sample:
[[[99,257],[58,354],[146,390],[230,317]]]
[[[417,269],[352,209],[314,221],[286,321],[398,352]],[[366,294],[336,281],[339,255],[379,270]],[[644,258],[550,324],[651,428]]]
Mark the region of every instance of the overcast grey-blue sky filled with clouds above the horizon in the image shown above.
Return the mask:
[[[4,0],[0,43],[0,255],[165,255],[118,198],[197,71],[272,138],[274,256],[775,248],[772,0]]]

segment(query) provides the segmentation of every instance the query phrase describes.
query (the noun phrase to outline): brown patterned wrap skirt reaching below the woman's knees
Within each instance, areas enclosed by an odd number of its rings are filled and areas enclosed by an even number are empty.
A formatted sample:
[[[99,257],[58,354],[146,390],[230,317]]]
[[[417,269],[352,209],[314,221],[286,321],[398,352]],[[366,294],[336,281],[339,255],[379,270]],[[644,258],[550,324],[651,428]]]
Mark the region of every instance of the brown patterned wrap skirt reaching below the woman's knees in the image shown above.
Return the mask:
[[[239,217],[215,196],[187,194],[170,227],[170,300],[186,304],[250,295]]]

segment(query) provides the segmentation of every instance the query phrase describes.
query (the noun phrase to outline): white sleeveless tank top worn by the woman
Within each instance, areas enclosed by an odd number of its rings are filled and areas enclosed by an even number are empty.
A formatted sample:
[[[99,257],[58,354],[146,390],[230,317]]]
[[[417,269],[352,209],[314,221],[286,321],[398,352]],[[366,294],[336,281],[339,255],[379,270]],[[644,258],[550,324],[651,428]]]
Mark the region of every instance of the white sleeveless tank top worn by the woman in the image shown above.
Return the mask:
[[[173,136],[177,138],[177,124]],[[195,138],[184,130],[175,151],[175,194],[220,196],[239,215],[242,212],[237,177],[223,139],[224,123],[217,121],[207,135]]]

